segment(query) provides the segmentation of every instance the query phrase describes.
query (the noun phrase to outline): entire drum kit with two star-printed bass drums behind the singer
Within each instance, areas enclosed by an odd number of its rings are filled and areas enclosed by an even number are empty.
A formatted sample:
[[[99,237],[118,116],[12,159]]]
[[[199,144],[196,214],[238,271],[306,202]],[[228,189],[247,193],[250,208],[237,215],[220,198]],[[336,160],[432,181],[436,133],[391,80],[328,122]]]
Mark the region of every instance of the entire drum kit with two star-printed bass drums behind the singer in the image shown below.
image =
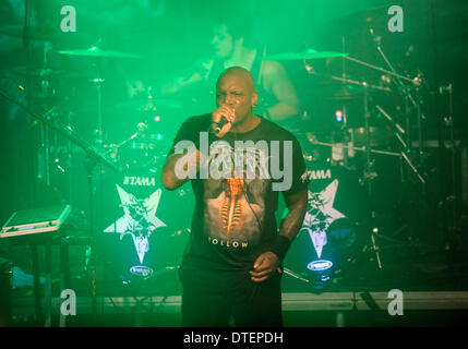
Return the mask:
[[[383,55],[382,50],[380,52]],[[188,189],[169,194],[160,184],[159,171],[165,154],[169,149],[168,141],[171,135],[167,135],[166,129],[163,128],[164,116],[159,113],[159,108],[160,106],[179,108],[180,104],[177,100],[156,98],[152,88],[144,88],[145,98],[117,105],[118,108],[139,111],[141,119],[134,123],[134,132],[130,132],[131,134],[129,133],[120,142],[108,142],[105,137],[103,119],[103,89],[106,88],[101,70],[103,60],[137,60],[142,57],[104,50],[99,45],[88,49],[59,50],[56,53],[68,59],[88,58],[93,61],[95,76],[89,82],[96,92],[95,149],[103,157],[110,159],[115,166],[123,169],[119,174],[106,174],[106,171],[98,171],[98,176],[100,176],[98,184],[111,183],[111,185],[98,190],[98,195],[101,195],[100,200],[104,198],[108,202],[105,205],[99,203],[97,208],[100,210],[101,221],[95,222],[96,226],[103,228],[104,258],[108,262],[112,258],[119,262],[113,265],[121,266],[117,274],[120,274],[122,282],[130,282],[135,277],[148,279],[159,275],[161,270],[175,269],[173,264],[177,263],[177,258],[180,260],[182,250],[176,249],[177,253],[166,255],[165,258],[171,260],[171,263],[168,264],[167,261],[160,260],[160,255],[165,254],[165,250],[167,254],[167,251],[171,249],[160,248],[161,242],[156,241],[156,238],[163,236],[173,239],[187,238],[190,232],[188,228],[190,221],[180,219],[175,207],[183,207],[185,213],[191,212],[193,195],[188,192]],[[47,57],[46,53],[45,57]],[[340,76],[325,76],[319,74],[310,64],[311,60],[329,59],[361,64],[369,70],[377,71],[382,74],[382,80],[372,84],[350,79],[345,68]],[[417,125],[420,127],[420,120],[423,118],[419,108],[419,88],[422,84],[422,76],[409,79],[398,74],[391,64],[388,64],[389,70],[384,70],[345,52],[307,49],[301,52],[263,57],[262,60],[302,61],[308,74],[327,81],[327,84],[322,86],[324,88],[320,88],[312,98],[317,101],[317,105],[332,106],[334,124],[322,128],[323,124],[321,125],[320,122],[314,123],[313,113],[311,118],[311,115],[304,112],[297,128],[291,130],[302,144],[311,180],[309,209],[298,236],[299,240],[304,240],[307,243],[295,245],[296,248],[308,245],[310,251],[302,249],[291,252],[289,255],[295,257],[285,261],[287,266],[285,270],[289,275],[309,280],[316,287],[323,287],[329,279],[333,279],[334,273],[339,270],[345,262],[356,257],[357,246],[362,248],[367,244],[367,241],[363,242],[367,239],[362,239],[362,237],[367,233],[365,231],[369,231],[371,224],[365,220],[369,213],[372,212],[372,207],[365,206],[364,203],[368,201],[367,197],[372,198],[373,181],[379,176],[374,168],[374,157],[398,158],[401,166],[407,165],[406,173],[408,176],[412,173],[411,178],[422,184],[425,183],[424,176],[419,170],[420,158],[417,158],[415,164],[415,154],[420,156],[422,149],[415,153],[410,148],[411,140],[408,130],[411,110],[417,111]],[[387,61],[386,58],[385,60]],[[75,117],[70,108],[71,98],[67,94],[61,95],[60,88],[58,88],[59,82],[63,81],[63,76],[70,76],[70,72],[48,69],[45,60],[41,69],[19,69],[16,73],[28,75],[31,80],[38,82],[29,93],[29,97],[39,101],[39,105],[46,106],[48,121],[53,122],[64,115],[68,129],[71,130],[70,124]],[[80,72],[71,74],[80,76]],[[398,87],[398,94],[403,95],[403,116],[406,129],[392,116],[392,112],[384,109],[384,104],[375,104],[375,100],[379,100],[375,98],[377,94],[395,94],[391,87],[393,83]],[[358,106],[358,109],[352,109],[355,106]],[[375,119],[371,117],[373,112],[379,112],[380,123],[373,123],[373,119]],[[418,144],[422,144],[420,129],[418,136],[420,141]],[[71,171],[72,145],[70,143],[60,144],[53,139],[52,133],[47,131],[47,127],[44,127],[40,146],[43,166],[39,174],[47,185],[50,185],[51,172],[60,174]],[[385,148],[377,148],[379,146],[385,146]],[[391,146],[397,151],[388,149]],[[63,158],[65,158],[64,161]],[[50,164],[52,164],[52,168]],[[358,172],[359,176],[349,174],[351,170],[352,173]],[[362,188],[365,189],[364,193],[361,191]],[[71,193],[70,196],[72,196]],[[355,204],[357,197],[361,197],[359,205]],[[110,207],[110,210],[106,212],[103,206]],[[357,206],[361,206],[361,210],[352,212]],[[190,218],[190,215],[185,216]],[[165,234],[157,233],[161,231],[165,231]],[[369,237],[369,241],[372,241],[370,250],[375,253],[379,267],[382,268],[374,238],[372,233]],[[173,244],[173,239],[169,239],[169,244]],[[169,240],[166,239],[166,242]],[[112,245],[113,248],[109,248]],[[181,246],[182,243],[177,245]],[[123,257],[125,249],[128,258]],[[358,254],[361,253],[362,249],[358,250]],[[111,251],[113,252],[111,253]]]

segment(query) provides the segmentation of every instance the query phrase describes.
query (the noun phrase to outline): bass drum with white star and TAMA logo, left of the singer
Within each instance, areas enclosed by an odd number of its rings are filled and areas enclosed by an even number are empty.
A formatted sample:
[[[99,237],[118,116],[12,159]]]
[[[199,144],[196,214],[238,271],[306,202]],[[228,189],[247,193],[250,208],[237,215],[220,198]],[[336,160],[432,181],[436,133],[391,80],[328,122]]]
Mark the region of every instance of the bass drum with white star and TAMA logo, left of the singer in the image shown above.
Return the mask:
[[[98,251],[108,281],[155,279],[178,269],[194,197],[188,184],[166,190],[160,174],[159,168],[132,167],[103,185]]]

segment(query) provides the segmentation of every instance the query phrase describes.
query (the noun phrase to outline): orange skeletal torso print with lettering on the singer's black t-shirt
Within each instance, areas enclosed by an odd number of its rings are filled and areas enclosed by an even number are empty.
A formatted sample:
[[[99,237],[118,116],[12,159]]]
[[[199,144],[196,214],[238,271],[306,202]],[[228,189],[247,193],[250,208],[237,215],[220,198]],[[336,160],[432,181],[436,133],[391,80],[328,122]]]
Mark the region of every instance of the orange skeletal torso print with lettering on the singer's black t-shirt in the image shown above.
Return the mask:
[[[205,227],[208,240],[232,249],[244,249],[259,242],[265,216],[265,197],[271,185],[268,161],[263,149],[245,148],[238,161],[219,158],[236,152],[220,152],[213,161],[242,164],[231,169],[231,178],[209,178],[204,186]],[[239,160],[240,159],[240,160]],[[232,165],[233,166],[233,165]]]

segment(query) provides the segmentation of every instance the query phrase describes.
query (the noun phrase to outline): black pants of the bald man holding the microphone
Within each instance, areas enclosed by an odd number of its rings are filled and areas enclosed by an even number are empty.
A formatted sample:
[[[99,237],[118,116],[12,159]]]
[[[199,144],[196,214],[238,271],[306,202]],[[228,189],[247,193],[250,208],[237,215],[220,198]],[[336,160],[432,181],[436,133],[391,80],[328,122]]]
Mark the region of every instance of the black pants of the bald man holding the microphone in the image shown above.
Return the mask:
[[[182,266],[182,326],[279,327],[280,274],[263,282],[252,281],[249,270],[219,272]]]

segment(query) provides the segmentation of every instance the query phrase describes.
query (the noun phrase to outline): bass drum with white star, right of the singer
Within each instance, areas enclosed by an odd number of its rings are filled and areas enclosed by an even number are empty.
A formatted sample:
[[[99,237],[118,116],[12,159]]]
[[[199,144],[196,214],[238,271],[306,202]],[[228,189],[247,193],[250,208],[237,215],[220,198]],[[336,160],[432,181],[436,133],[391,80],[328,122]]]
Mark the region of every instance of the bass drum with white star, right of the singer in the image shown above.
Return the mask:
[[[284,261],[296,278],[323,288],[347,270],[369,238],[369,205],[356,173],[327,163],[308,166],[308,212]]]

